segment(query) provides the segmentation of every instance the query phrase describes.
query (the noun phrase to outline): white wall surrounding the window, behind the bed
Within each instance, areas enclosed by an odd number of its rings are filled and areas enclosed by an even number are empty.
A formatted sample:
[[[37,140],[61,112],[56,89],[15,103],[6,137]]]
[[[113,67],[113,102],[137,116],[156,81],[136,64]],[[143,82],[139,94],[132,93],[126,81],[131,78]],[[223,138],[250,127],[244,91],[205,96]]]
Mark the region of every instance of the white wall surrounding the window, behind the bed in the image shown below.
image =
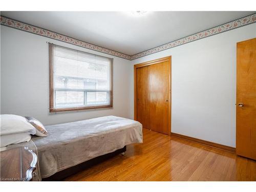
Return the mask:
[[[46,41],[114,58],[113,109],[49,114],[49,53]],[[106,115],[133,117],[131,61],[1,26],[1,114],[33,116],[55,124]]]

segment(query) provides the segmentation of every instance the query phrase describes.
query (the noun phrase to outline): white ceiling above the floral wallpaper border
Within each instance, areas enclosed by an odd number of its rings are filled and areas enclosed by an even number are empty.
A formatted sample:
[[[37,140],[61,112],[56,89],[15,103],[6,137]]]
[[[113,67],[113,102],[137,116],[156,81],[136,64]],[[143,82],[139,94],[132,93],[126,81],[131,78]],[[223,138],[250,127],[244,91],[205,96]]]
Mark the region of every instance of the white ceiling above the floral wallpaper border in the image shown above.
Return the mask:
[[[3,11],[1,15],[127,55],[251,14],[226,12],[29,12]]]

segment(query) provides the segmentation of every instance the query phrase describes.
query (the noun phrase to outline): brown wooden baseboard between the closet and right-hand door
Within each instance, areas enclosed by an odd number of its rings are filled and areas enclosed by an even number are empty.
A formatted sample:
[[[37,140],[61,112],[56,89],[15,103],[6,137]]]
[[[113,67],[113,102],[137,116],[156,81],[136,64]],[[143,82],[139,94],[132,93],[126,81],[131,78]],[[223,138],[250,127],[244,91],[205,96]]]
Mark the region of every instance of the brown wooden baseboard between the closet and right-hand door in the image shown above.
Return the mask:
[[[205,140],[197,139],[197,138],[194,138],[194,137],[188,137],[188,136],[180,135],[180,134],[177,134],[177,133],[170,133],[170,136],[178,137],[180,139],[184,139],[184,140],[187,140],[187,141],[199,143],[199,144],[210,146],[210,147],[213,147],[213,148],[218,148],[219,150],[224,150],[224,151],[227,151],[227,152],[236,153],[236,148],[231,147],[231,146],[222,145],[222,144],[214,143],[214,142],[210,142],[210,141],[205,141]]]

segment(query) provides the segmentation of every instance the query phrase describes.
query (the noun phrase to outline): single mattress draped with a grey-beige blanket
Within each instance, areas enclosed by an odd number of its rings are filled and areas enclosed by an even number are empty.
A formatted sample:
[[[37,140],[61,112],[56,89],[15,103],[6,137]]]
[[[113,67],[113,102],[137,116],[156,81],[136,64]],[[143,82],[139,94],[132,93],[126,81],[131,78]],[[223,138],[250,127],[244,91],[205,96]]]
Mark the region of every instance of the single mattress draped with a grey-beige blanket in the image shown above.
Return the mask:
[[[46,129],[48,137],[32,137],[41,178],[143,139],[141,123],[116,116],[48,125]]]

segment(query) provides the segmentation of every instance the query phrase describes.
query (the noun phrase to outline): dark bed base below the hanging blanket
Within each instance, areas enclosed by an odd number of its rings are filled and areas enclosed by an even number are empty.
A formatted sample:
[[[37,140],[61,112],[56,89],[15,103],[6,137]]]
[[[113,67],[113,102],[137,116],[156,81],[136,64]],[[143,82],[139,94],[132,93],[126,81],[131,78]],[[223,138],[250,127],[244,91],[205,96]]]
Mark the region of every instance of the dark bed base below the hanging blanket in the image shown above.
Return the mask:
[[[120,148],[119,150],[116,150],[112,153],[101,155],[99,157],[95,157],[88,161],[82,162],[78,165],[61,170],[60,172],[57,172],[50,177],[43,178],[42,181],[61,181],[61,180],[65,179],[66,177],[69,177],[71,175],[74,175],[74,174],[80,172],[81,170],[87,169],[89,167],[92,167],[93,165],[96,165],[96,164],[104,161],[104,160],[110,159],[111,157],[114,157],[117,154],[121,154],[121,153],[125,154],[125,152],[126,152],[126,146],[124,146],[123,148]]]

